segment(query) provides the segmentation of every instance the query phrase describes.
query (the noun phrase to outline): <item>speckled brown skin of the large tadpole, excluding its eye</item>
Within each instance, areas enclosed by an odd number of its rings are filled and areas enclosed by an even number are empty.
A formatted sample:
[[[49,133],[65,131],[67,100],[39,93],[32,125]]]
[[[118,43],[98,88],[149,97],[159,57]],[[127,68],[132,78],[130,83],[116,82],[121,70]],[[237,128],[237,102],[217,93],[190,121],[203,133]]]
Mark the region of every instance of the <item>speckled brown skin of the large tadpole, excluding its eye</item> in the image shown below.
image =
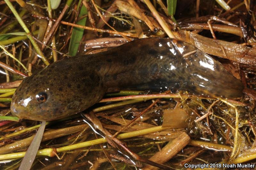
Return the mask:
[[[243,90],[239,80],[196,47],[150,38],[50,64],[23,80],[13,96],[11,111],[19,118],[51,121],[92,106],[109,87],[150,84],[163,91],[175,88],[224,98],[241,97]],[[39,92],[47,94],[44,103],[36,100]]]

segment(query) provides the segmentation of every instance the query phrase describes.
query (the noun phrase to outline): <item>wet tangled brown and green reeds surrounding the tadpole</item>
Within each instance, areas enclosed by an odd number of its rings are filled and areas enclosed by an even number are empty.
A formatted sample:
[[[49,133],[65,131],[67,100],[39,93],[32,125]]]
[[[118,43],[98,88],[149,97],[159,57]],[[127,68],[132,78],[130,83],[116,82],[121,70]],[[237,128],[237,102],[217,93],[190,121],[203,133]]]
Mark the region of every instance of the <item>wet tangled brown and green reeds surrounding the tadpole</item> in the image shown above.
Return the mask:
[[[256,1],[4,0],[0,9],[0,169],[19,168],[40,127],[10,113],[23,78],[67,56],[147,37],[186,41],[212,55],[242,81],[244,96],[108,92],[81,114],[46,122],[32,169],[255,164]]]

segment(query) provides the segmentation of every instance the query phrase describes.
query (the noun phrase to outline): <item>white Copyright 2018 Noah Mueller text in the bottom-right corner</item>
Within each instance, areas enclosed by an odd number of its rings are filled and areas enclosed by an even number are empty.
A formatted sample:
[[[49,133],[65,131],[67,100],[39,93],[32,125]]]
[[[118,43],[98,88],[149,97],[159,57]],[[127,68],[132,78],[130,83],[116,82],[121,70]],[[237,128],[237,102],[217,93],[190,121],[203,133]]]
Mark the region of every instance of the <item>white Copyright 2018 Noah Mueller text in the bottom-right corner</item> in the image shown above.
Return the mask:
[[[185,168],[214,168],[214,169],[222,169],[222,168],[254,168],[255,164],[226,164],[226,163],[209,163],[209,164],[185,164]]]

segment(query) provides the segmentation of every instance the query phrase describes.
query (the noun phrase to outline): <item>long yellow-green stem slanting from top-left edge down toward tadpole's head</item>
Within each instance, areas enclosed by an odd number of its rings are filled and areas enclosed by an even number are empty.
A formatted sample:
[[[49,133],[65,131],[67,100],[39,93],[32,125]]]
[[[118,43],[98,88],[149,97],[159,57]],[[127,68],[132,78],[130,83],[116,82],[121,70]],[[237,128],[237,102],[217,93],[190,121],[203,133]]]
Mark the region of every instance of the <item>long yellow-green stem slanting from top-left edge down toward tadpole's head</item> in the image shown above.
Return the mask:
[[[27,33],[28,39],[31,41],[31,43],[33,44],[34,48],[36,49],[36,52],[38,55],[40,55],[41,59],[43,60],[43,62],[45,63],[45,65],[49,65],[50,63],[47,61],[47,59],[44,57],[43,52],[41,51],[41,49],[38,47],[38,45],[36,44],[36,41],[34,40],[34,38],[32,37],[28,27],[26,26],[26,24],[24,23],[24,21],[20,18],[18,12],[16,11],[16,9],[14,8],[14,6],[12,5],[12,3],[9,0],[4,0],[5,3],[9,6],[9,8],[11,9],[12,13],[14,14],[14,16],[16,17],[16,19],[18,20],[18,22],[20,23],[20,25],[22,26],[22,28],[24,29],[24,31]]]

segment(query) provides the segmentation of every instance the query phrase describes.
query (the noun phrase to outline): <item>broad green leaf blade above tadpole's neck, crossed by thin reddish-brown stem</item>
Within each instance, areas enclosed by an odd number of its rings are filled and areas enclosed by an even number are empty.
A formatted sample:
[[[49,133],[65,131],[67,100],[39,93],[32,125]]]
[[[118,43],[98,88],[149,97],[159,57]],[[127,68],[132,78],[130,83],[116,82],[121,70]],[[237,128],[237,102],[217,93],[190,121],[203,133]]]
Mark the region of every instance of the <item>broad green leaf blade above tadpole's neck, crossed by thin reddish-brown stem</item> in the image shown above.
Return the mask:
[[[77,9],[79,9],[79,6],[81,5],[81,3],[82,3],[82,0],[79,1],[79,5],[78,5]],[[78,18],[82,17],[86,14],[87,14],[87,8],[85,8],[85,6],[83,5],[81,7]],[[81,25],[81,26],[85,26],[86,19],[87,19],[87,17],[79,20],[76,24]],[[84,29],[77,28],[77,27],[73,28],[73,31],[71,33],[70,42],[69,42],[69,48],[68,48],[69,55],[71,55],[71,56],[76,55],[76,53],[78,51],[78,48],[79,48],[79,45],[80,45],[80,41],[83,38],[83,35],[84,35]]]

